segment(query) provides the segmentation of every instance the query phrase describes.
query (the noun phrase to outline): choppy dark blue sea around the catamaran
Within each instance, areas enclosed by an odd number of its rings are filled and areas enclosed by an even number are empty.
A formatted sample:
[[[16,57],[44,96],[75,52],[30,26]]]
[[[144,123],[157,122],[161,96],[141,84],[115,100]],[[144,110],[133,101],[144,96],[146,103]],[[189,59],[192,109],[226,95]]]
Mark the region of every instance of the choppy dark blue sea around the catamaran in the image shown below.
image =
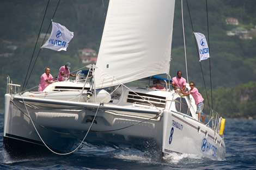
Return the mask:
[[[44,158],[15,161],[3,149],[4,114],[0,113],[0,169],[256,169],[256,121],[226,119],[225,160],[190,154],[157,155],[136,149],[84,146],[76,154],[52,154]]]

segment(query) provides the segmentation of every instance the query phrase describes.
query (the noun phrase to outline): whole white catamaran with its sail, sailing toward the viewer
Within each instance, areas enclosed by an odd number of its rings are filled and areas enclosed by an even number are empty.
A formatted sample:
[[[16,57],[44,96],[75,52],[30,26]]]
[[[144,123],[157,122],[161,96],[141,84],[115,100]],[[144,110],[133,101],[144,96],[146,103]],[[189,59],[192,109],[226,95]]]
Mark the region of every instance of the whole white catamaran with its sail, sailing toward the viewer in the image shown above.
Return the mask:
[[[171,66],[174,5],[111,0],[96,65],[42,92],[20,92],[8,77],[4,149],[65,155],[92,144],[224,159],[224,119],[198,121],[193,97],[160,76]],[[166,90],[150,89],[153,80]]]

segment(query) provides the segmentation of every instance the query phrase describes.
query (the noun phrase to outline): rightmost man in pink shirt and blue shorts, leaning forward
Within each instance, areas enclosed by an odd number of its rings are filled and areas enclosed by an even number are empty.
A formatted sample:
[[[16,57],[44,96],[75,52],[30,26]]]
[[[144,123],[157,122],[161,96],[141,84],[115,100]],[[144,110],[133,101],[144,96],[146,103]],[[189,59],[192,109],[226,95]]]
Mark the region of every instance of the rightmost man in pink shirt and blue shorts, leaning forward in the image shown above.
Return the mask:
[[[191,81],[190,82],[190,90],[189,91],[182,91],[182,90],[179,90],[179,92],[182,93],[181,97],[182,96],[188,96],[188,95],[192,95],[193,98],[194,98],[194,101],[196,102],[196,105],[197,105],[197,111],[196,111],[196,114],[198,114],[198,121],[200,121],[200,116],[202,116],[202,122],[204,123],[204,113],[203,113],[203,109],[204,109],[204,103],[203,103],[203,100],[204,98],[202,97],[202,95],[198,92],[197,88],[194,87],[194,82]]]

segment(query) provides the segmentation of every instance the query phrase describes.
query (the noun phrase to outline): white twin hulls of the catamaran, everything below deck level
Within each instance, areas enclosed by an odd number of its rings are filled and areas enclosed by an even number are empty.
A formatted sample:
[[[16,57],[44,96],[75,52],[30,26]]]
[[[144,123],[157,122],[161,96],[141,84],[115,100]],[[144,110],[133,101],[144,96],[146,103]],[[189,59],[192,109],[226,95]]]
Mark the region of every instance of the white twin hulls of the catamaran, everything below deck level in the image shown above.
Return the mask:
[[[54,152],[69,153],[83,139],[83,143],[149,152],[212,159],[225,155],[220,135],[180,112],[5,95],[4,148],[10,155],[39,152],[38,148],[49,152],[45,144]]]

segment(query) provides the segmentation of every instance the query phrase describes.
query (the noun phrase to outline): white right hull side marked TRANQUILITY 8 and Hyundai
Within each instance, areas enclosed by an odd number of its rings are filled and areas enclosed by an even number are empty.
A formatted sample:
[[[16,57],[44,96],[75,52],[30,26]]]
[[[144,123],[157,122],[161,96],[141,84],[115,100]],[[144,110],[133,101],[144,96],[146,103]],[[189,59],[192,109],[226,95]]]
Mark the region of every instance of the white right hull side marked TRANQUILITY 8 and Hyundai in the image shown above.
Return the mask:
[[[163,115],[163,153],[187,153],[224,159],[225,144],[222,137],[210,127],[180,114]]]

